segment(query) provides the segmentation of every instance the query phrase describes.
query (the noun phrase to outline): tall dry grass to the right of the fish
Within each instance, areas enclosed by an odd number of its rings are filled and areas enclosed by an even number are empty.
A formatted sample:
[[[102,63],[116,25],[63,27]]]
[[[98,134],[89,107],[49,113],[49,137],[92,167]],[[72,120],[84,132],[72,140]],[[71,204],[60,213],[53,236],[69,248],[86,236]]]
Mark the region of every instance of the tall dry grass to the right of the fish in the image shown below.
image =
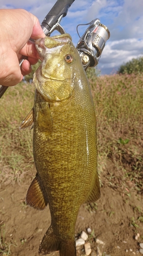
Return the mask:
[[[97,77],[91,86],[101,184],[107,182],[126,194],[131,189],[142,193],[143,76]]]

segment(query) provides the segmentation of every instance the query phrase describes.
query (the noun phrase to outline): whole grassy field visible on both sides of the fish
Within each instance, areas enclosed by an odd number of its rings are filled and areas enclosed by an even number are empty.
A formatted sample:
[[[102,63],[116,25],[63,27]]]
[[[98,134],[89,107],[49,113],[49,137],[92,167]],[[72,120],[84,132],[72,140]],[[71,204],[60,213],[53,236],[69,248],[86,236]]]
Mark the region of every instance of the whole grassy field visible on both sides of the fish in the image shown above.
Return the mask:
[[[98,169],[107,183],[130,196],[142,193],[143,76],[93,76],[90,79],[97,116]],[[31,130],[19,131],[33,107],[33,84],[20,83],[0,100],[0,182],[21,182],[33,166]]]

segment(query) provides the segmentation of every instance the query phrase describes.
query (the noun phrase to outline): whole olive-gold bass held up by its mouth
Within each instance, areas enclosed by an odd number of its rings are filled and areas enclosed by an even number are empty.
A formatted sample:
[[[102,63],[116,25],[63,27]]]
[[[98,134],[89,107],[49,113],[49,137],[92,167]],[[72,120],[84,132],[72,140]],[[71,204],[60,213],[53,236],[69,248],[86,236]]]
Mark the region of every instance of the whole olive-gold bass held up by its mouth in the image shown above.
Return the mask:
[[[39,255],[60,251],[60,256],[75,256],[79,207],[100,198],[94,103],[69,34],[37,39],[35,46],[42,62],[33,77],[34,107],[20,126],[34,123],[37,174],[26,204],[39,210],[49,204],[51,225]]]

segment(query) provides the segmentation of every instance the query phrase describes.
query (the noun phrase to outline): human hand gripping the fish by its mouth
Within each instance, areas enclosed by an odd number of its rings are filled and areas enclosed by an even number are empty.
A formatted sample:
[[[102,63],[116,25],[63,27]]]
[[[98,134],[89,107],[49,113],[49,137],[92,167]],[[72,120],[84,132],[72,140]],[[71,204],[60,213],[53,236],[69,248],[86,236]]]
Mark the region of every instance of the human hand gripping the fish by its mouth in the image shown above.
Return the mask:
[[[32,71],[31,65],[37,63],[39,55],[30,37],[45,37],[39,20],[22,9],[0,10],[0,84],[14,86],[24,75]],[[22,55],[28,56],[19,67]]]

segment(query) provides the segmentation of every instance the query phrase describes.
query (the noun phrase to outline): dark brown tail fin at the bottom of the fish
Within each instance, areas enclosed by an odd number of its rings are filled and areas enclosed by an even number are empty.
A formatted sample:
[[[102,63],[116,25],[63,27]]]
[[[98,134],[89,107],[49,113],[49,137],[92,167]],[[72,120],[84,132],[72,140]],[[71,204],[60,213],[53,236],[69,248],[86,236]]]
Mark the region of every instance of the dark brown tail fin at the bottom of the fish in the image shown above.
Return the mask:
[[[50,226],[39,247],[39,255],[46,255],[53,251],[60,251],[60,256],[76,256],[75,241],[63,240],[56,237]]]

